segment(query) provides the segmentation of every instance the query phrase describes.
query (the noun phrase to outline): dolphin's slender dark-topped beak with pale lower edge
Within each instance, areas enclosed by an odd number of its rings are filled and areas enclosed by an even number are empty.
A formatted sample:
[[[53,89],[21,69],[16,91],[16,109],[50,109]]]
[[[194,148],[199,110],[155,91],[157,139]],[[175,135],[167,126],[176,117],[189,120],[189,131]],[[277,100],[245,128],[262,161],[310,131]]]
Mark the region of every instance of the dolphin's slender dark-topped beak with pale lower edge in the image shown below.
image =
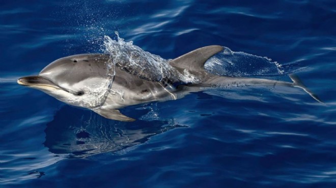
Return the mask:
[[[41,76],[22,77],[17,80],[17,83],[20,85],[37,87],[37,88],[42,88],[42,87],[47,86],[47,87],[54,87],[57,89],[61,89],[59,86],[55,85],[50,80],[43,78]]]

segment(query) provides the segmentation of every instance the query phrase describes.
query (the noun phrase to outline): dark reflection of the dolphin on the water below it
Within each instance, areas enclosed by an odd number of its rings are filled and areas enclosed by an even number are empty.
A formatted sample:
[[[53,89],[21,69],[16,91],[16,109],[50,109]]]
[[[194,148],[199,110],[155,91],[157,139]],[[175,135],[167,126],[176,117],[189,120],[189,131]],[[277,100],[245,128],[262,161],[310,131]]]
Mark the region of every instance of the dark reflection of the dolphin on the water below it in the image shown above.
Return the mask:
[[[147,113],[146,109],[137,113]],[[88,110],[63,106],[47,124],[44,145],[71,158],[121,149],[146,142],[151,136],[182,127],[167,120],[121,122]]]

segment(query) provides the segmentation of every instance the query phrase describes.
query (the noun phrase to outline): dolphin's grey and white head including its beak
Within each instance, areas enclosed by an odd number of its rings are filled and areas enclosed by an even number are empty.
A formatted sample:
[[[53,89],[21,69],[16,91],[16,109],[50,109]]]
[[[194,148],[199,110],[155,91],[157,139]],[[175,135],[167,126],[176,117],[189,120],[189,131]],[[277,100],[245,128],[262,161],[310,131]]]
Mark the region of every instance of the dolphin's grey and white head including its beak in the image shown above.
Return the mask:
[[[94,108],[104,102],[113,79],[113,66],[106,54],[80,54],[57,59],[37,76],[18,79],[67,104]]]

